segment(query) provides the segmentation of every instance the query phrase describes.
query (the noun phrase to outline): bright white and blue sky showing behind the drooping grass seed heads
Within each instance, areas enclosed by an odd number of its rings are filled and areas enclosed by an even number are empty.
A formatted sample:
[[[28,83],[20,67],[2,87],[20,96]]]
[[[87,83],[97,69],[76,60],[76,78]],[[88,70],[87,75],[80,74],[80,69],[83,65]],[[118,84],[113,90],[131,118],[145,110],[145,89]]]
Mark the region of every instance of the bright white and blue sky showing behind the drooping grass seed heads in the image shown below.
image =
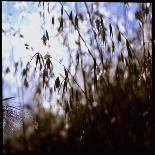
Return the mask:
[[[88,3],[90,5],[91,3]],[[60,60],[62,59],[62,63],[65,66],[68,66],[68,55],[67,48],[62,45],[62,38],[53,37],[57,34],[56,28],[59,26],[59,22],[55,21],[55,26],[51,29],[51,17],[54,15],[56,18],[60,17],[60,5],[59,3],[55,4],[55,2],[50,3],[50,8],[57,5],[55,9],[51,9],[51,14],[46,14],[47,22],[44,25],[45,29],[48,30],[50,35],[49,44],[50,48],[44,47],[41,42],[41,37],[43,35],[43,31],[41,29],[42,20],[39,16],[39,8],[38,3],[35,2],[2,2],[2,28],[4,30],[9,30],[11,27],[16,31],[20,30],[20,33],[24,36],[24,38],[20,38],[19,35],[12,36],[9,34],[2,34],[2,67],[3,71],[5,71],[6,67],[10,67],[11,72],[8,75],[3,73],[3,98],[10,96],[18,96],[18,101],[21,102],[20,95],[18,94],[18,89],[21,88],[21,76],[16,77],[14,75],[14,63],[20,62],[22,60],[23,66],[26,65],[27,61],[39,51],[41,54],[46,55],[50,53],[54,58]],[[66,3],[65,9],[68,13],[73,10],[74,13],[74,3]],[[79,11],[85,12],[85,7],[83,3],[78,3]],[[45,5],[47,7],[47,5]],[[130,35],[134,35],[132,32],[132,28],[138,28],[139,24],[135,20],[134,13],[138,9],[137,3],[129,4],[129,8],[127,11],[127,19],[124,20],[124,10],[122,3],[100,3],[99,11],[105,16],[110,17],[114,22],[118,20],[118,26],[120,30],[125,33],[128,37]],[[86,14],[87,15],[87,14]],[[87,16],[86,16],[87,17]],[[125,29],[124,24],[126,22],[127,29]],[[105,25],[108,27],[110,23],[109,20],[105,19]],[[81,33],[84,35],[87,27],[81,24]],[[84,35],[87,39],[87,36]],[[75,38],[77,38],[77,32],[70,34],[69,42],[71,45],[71,49],[75,48]],[[28,43],[33,48],[34,51],[28,51],[25,49],[24,44]],[[82,44],[82,48],[84,51],[87,51],[87,48],[84,44]],[[73,55],[74,56],[74,55]],[[52,62],[54,67],[54,73],[56,77],[60,74],[64,74],[63,67],[57,62]],[[32,62],[32,66],[35,65],[35,62]],[[19,69],[19,73],[22,69]],[[71,68],[71,72],[74,74],[74,67]],[[80,78],[79,78],[80,79]],[[82,81],[82,80],[81,80]],[[82,85],[82,84],[81,84]],[[25,98],[27,94],[25,94]],[[17,101],[17,102],[18,102]],[[46,101],[48,102],[48,101]]]

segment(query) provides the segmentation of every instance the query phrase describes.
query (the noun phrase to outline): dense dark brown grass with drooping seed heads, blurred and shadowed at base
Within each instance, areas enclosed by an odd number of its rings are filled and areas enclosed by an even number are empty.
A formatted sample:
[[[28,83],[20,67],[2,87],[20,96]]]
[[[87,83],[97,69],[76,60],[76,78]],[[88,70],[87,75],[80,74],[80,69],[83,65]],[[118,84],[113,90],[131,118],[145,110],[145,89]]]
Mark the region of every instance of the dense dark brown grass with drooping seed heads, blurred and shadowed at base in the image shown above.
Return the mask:
[[[93,27],[93,20],[96,17],[90,17],[89,7],[87,3],[85,5],[90,25]],[[65,29],[62,21],[65,8],[63,7],[62,5],[59,31]],[[142,25],[144,19],[140,14],[148,15],[145,9],[150,8],[142,4],[136,15]],[[97,31],[91,29],[96,42],[92,45],[92,49],[93,46],[96,47],[98,56],[92,54],[88,48],[92,63],[85,64],[80,45],[80,42],[85,40],[78,27],[78,19],[80,20],[81,16],[77,14],[74,19],[72,12],[68,14],[68,20],[79,35],[75,70],[76,73],[78,71],[82,73],[84,90],[77,82],[78,77],[73,76],[70,70],[62,65],[65,77],[63,80],[56,77],[55,85],[52,87],[61,96],[57,104],[63,107],[64,115],[51,113],[51,109],[47,110],[43,107],[40,98],[34,98],[34,103],[24,107],[30,113],[23,115],[22,125],[6,136],[4,152],[52,152],[59,149],[150,150],[152,51],[145,46],[144,39],[141,47],[143,51],[137,51],[136,46],[131,46],[132,40],[127,39],[119,29],[115,34],[111,24],[106,28],[100,17],[95,21]],[[111,44],[106,42],[108,33]],[[114,40],[114,36],[117,40]],[[103,43],[104,52],[98,46],[98,39]],[[43,36],[44,46],[47,40],[49,36],[46,31]],[[125,48],[127,56],[120,51],[117,56],[118,62],[114,64],[113,54],[120,45]],[[137,53],[140,53],[141,57]],[[44,59],[40,53],[36,53],[32,59],[36,61],[36,67],[40,65],[38,72],[42,73],[36,94],[40,95],[44,87],[49,87],[50,92],[53,93],[48,78],[52,73],[52,58]],[[23,70],[25,87],[29,86],[27,80],[29,63]],[[111,72],[114,74],[112,75]]]

